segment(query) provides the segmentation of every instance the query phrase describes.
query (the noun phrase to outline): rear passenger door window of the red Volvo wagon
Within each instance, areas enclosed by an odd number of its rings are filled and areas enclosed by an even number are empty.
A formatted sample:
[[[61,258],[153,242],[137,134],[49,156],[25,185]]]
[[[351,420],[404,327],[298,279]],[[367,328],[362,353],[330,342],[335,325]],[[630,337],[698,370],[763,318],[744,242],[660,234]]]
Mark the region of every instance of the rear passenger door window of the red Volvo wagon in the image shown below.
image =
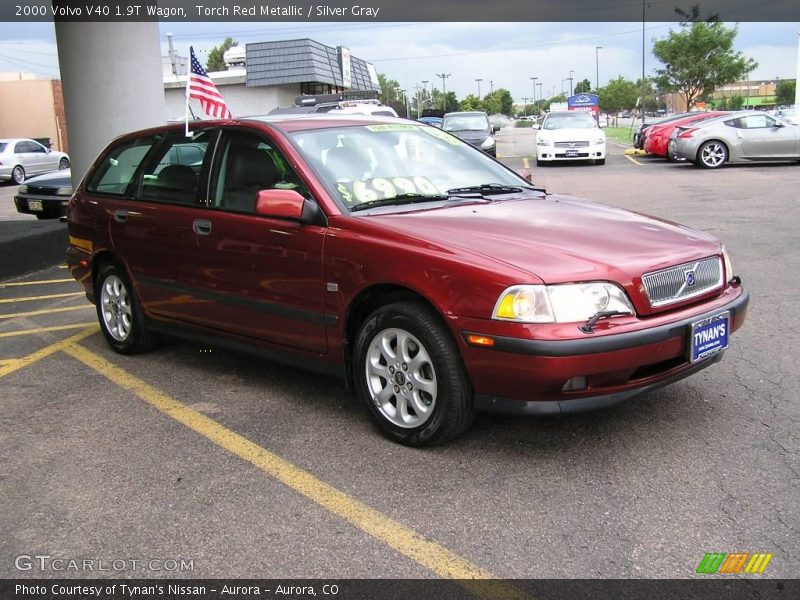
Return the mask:
[[[169,136],[145,165],[141,198],[155,202],[196,204],[200,171],[210,137],[210,131],[200,131],[191,138],[181,134]]]

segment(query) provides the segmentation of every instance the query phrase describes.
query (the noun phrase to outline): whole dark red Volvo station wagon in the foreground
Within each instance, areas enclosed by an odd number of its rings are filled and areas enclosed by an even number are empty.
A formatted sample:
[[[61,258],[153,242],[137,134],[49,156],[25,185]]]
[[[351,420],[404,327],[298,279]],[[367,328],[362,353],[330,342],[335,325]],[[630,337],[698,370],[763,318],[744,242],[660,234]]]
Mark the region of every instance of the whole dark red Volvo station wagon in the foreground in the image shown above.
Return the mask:
[[[69,204],[69,267],[117,352],[170,333],[336,373],[385,434],[425,445],[476,411],[574,412],[672,383],[744,322],[714,236],[548,194],[441,129],[192,129],[115,140]]]

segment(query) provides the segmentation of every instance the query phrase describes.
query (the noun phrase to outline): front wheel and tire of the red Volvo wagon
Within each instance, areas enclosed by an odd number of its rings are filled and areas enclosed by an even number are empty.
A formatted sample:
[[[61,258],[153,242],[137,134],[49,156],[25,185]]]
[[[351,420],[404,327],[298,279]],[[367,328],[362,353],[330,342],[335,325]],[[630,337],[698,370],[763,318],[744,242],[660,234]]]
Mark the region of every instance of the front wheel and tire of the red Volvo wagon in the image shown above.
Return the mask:
[[[389,304],[367,317],[355,343],[353,380],[379,429],[407,446],[448,442],[475,416],[455,342],[422,303]]]

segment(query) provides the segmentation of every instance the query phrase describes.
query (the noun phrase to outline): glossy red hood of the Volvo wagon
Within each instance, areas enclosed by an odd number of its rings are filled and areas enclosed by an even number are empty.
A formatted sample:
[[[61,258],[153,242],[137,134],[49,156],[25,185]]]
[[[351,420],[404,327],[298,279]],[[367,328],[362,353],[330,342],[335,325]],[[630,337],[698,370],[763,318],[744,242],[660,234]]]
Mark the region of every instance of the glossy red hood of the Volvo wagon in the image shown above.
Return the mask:
[[[719,241],[702,231],[566,196],[369,216],[544,283],[611,280],[638,287],[644,273],[719,253]]]

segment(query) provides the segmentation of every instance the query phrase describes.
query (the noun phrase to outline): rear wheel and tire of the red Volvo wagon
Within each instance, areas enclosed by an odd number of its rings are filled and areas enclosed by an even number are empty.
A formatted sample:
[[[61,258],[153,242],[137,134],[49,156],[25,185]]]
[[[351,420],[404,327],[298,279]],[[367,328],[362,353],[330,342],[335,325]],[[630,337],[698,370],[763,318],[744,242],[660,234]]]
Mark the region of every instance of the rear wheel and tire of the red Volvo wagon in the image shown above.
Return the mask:
[[[144,326],[139,299],[127,274],[114,264],[103,265],[95,281],[97,319],[106,342],[120,354],[137,354],[155,347],[158,338]]]

